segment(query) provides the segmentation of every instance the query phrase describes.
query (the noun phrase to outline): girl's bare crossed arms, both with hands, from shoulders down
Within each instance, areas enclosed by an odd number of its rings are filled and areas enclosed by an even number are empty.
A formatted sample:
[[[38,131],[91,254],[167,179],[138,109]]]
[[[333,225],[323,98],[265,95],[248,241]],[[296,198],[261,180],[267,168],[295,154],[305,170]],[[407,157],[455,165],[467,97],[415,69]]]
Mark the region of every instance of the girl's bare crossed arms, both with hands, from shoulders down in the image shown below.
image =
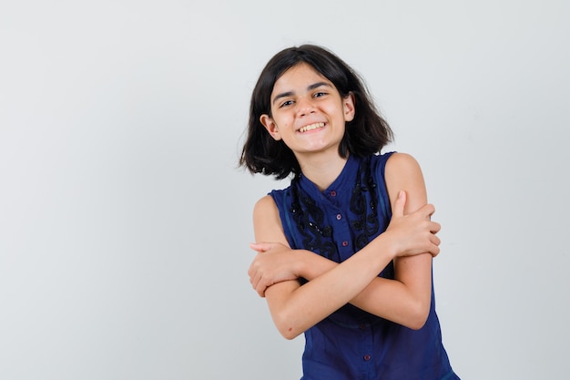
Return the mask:
[[[346,303],[412,329],[425,323],[440,225],[431,221],[434,208],[426,204],[422,170],[412,156],[392,154],[385,179],[392,204],[388,229],[341,263],[291,250],[274,200],[266,196],[256,203],[257,242],[251,248],[258,255],[249,267],[249,280],[266,298],[284,337],[302,334]],[[394,279],[378,277],[391,261]],[[299,277],[309,282],[301,286]]]

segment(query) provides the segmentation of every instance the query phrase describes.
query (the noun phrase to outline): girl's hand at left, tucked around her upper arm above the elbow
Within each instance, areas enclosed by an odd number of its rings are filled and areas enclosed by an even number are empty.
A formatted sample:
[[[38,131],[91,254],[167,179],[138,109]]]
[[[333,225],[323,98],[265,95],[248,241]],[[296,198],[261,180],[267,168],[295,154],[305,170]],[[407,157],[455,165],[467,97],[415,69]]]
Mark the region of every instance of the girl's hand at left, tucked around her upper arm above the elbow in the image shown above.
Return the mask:
[[[251,243],[249,247],[258,255],[249,265],[249,282],[253,289],[265,297],[265,291],[271,285],[297,280],[296,255],[293,250],[279,242]]]

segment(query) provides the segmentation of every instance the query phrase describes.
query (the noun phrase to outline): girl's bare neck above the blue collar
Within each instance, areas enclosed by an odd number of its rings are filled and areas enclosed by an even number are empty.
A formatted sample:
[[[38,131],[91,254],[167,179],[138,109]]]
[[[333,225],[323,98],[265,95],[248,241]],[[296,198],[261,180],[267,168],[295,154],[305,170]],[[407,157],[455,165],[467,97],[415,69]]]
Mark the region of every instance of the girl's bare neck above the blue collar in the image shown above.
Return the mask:
[[[303,176],[323,191],[331,186],[341,174],[347,159],[341,158],[338,151],[330,155],[314,155],[310,158],[297,157]]]

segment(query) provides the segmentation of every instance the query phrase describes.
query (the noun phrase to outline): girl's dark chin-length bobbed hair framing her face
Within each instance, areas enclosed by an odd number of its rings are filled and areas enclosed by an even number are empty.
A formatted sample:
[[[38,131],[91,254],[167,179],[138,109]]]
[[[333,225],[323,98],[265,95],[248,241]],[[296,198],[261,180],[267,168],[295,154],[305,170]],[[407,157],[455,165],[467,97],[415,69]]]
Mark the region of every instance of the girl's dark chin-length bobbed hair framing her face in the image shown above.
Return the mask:
[[[273,139],[260,122],[263,114],[271,115],[270,97],[275,82],[290,67],[306,63],[329,79],[342,98],[354,96],[354,118],[346,123],[339,146],[341,157],[349,153],[365,157],[380,152],[392,141],[392,129],[374,106],[372,97],[358,76],[340,57],[314,45],[281,50],[263,68],[249,104],[248,137],[241,151],[239,165],[252,173],[273,175],[284,179],[291,172],[300,174],[299,162],[283,140]]]

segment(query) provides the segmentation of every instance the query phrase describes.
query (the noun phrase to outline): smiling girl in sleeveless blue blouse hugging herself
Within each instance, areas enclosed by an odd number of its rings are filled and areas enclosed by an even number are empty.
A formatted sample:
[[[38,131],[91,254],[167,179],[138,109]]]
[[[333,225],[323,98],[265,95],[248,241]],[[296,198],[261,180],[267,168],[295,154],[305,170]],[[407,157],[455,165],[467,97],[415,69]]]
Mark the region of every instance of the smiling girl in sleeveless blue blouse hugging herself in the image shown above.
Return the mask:
[[[361,79],[320,46],[282,50],[253,90],[240,164],[284,179],[253,211],[249,268],[305,380],[458,379],[434,309],[439,253],[418,163]]]

